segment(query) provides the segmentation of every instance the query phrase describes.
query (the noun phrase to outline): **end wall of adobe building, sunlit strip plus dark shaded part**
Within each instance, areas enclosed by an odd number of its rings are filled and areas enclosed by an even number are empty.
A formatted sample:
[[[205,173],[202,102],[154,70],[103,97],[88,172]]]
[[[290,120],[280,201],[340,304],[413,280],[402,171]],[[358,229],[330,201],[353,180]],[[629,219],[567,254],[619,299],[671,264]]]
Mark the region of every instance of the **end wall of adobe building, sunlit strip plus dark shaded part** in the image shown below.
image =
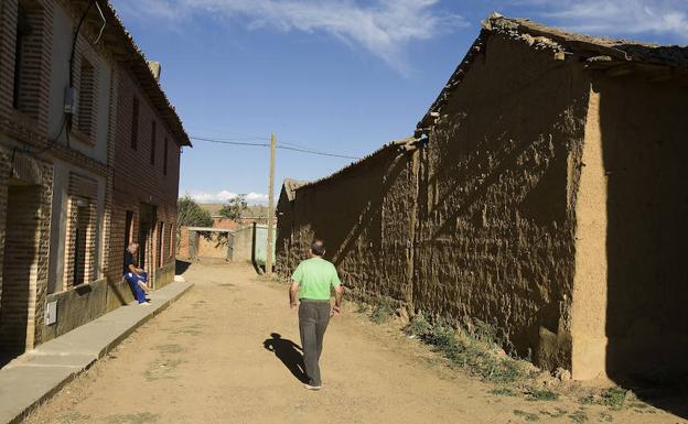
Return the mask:
[[[578,260],[573,374],[685,374],[688,145],[677,129],[688,90],[647,75],[596,73],[590,97],[581,181],[581,200],[590,202],[580,204],[589,206],[585,216],[579,210],[577,236],[588,260]]]

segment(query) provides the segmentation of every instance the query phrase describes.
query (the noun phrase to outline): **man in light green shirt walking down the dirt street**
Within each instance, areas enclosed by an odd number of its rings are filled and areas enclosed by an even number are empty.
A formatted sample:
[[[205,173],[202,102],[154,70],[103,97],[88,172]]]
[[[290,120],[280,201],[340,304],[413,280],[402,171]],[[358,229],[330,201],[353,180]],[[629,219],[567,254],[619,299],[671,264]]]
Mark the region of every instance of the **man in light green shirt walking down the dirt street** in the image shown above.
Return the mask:
[[[301,346],[303,348],[303,362],[309,382],[304,385],[308,390],[322,389],[320,378],[320,354],[322,352],[323,338],[330,317],[340,315],[342,312],[342,283],[336,269],[323,259],[325,244],[322,240],[311,244],[311,258],[302,261],[291,276],[289,287],[289,302],[292,309],[299,305],[299,331],[301,333]],[[334,306],[330,305],[331,289],[334,287]]]

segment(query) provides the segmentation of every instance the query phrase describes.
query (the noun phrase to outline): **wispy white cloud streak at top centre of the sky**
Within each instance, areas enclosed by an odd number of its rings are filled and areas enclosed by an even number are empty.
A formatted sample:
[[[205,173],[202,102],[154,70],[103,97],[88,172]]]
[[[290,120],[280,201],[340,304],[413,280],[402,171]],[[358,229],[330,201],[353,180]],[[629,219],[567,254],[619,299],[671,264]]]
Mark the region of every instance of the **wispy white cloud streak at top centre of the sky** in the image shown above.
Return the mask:
[[[193,14],[234,19],[248,29],[324,32],[363,46],[406,72],[408,43],[429,40],[467,22],[437,8],[439,0],[119,0],[130,15],[184,20]]]

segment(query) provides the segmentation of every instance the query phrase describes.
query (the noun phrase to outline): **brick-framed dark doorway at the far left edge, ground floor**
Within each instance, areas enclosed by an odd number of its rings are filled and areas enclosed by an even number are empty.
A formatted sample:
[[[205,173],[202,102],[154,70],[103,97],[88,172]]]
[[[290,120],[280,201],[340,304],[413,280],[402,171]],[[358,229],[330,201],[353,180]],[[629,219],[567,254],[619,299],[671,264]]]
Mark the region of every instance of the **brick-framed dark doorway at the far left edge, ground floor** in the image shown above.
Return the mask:
[[[42,340],[52,167],[0,145],[0,349]],[[22,343],[23,341],[23,343]]]

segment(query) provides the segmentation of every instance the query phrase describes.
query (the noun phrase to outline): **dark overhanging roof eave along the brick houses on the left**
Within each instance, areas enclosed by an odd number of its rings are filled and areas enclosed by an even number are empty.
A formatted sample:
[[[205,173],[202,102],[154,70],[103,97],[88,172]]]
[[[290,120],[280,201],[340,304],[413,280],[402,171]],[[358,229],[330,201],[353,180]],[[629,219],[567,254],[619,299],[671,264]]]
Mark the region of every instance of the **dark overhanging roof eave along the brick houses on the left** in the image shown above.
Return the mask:
[[[89,2],[90,0],[71,1],[82,13],[88,8]],[[105,3],[105,7],[103,7],[103,3]],[[143,93],[165,121],[175,141],[181,145],[191,145],[189,134],[186,134],[174,106],[172,106],[160,83],[151,73],[146,55],[136,44],[131,34],[125,29],[112,3],[108,0],[101,1],[99,4],[107,22],[103,33],[103,43],[105,43],[118,63],[123,64],[131,70]],[[90,8],[86,23],[94,28],[100,28],[101,22],[96,8]]]

